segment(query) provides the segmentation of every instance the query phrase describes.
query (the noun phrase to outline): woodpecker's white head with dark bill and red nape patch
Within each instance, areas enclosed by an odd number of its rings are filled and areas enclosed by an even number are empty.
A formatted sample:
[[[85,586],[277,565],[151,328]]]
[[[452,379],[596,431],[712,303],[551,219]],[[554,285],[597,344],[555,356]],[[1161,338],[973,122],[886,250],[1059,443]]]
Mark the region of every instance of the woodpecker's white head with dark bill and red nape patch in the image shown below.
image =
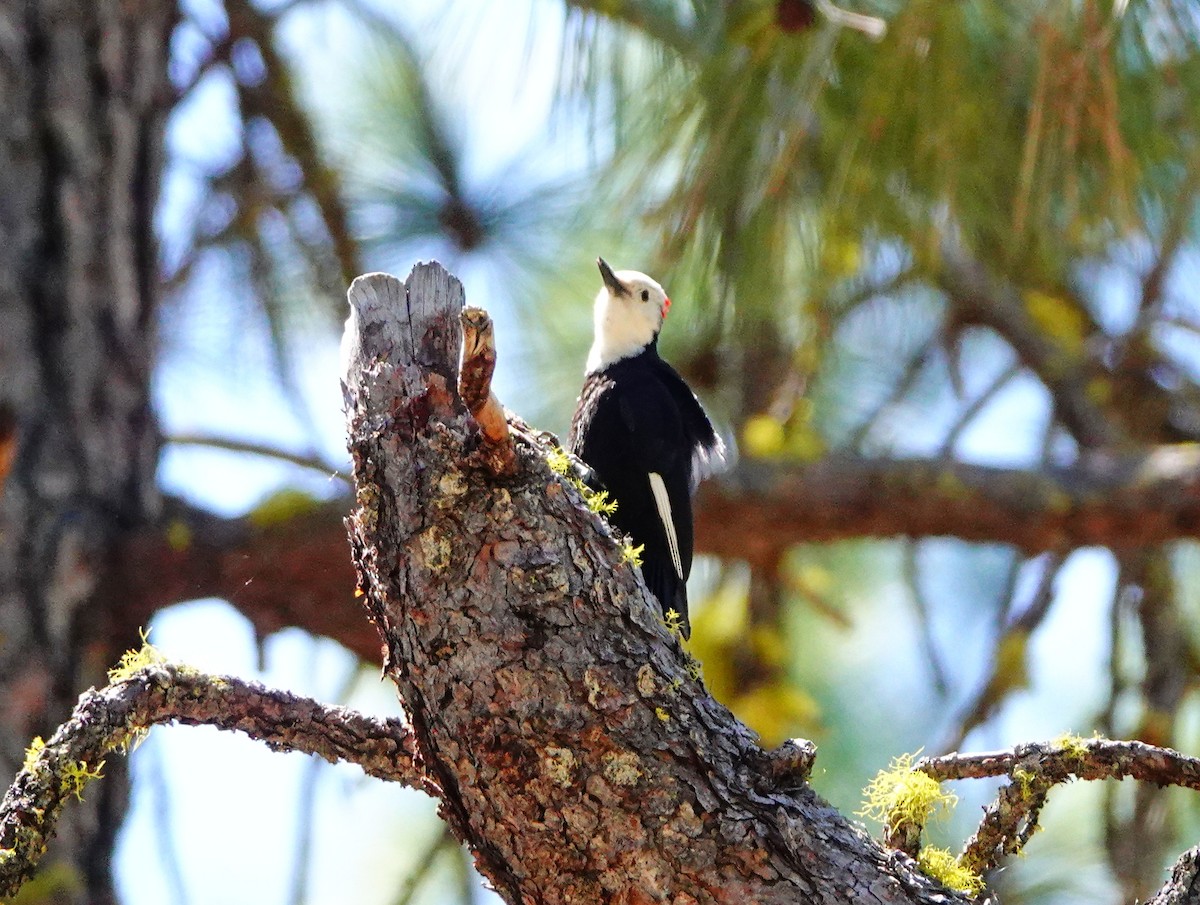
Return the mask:
[[[618,270],[596,258],[604,288],[595,302],[595,338],[588,353],[587,373],[636,355],[659,335],[671,299],[656,281],[636,270]]]

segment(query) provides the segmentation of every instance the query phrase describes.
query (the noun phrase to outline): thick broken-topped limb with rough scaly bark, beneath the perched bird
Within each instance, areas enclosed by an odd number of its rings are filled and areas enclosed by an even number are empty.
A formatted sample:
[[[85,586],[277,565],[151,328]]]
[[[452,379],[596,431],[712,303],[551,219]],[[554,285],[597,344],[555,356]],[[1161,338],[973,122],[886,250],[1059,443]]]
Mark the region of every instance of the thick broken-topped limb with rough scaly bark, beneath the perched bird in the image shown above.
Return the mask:
[[[442,813],[508,901],[956,900],[773,774],[536,437],[487,467],[457,281],[350,296],[355,562]]]

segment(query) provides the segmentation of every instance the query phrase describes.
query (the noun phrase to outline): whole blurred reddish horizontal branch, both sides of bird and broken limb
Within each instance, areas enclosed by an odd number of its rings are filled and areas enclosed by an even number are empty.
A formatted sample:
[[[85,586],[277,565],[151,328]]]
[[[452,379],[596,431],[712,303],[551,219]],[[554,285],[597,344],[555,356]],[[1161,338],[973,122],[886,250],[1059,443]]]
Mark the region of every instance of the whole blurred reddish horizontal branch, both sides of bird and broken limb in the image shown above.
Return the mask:
[[[172,501],[162,523],[122,552],[119,628],[128,636],[163,606],[220,597],[263,636],[298,625],[378,661],[378,633],[359,618],[346,558],[350,505],[335,499],[256,523]],[[750,460],[706,481],[696,501],[697,552],[730,561],[770,565],[796,544],[865,537],[958,537],[1030,555],[1200,538],[1200,450],[1094,452],[1040,471],[942,459]]]

